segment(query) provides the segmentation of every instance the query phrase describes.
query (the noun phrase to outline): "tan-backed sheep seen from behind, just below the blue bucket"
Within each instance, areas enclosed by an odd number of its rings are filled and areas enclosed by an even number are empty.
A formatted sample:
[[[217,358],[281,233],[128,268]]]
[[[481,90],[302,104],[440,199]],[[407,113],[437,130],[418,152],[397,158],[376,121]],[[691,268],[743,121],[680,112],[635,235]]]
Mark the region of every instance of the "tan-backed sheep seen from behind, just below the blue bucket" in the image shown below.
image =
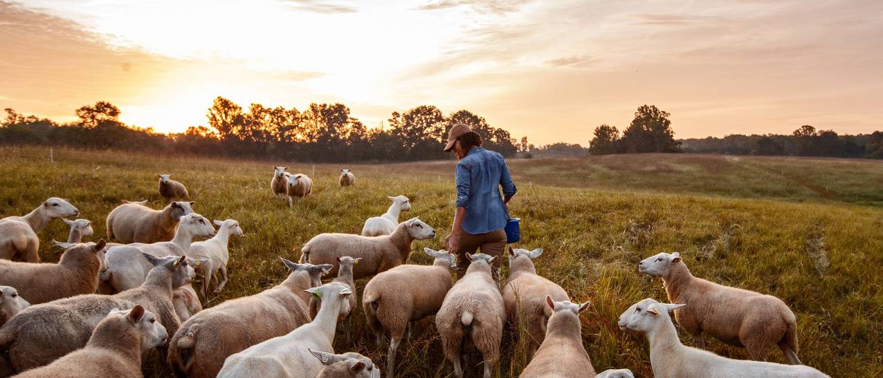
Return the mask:
[[[546,296],[552,296],[553,300],[570,300],[561,286],[537,274],[532,259],[542,253],[542,249],[509,248],[509,279],[502,290],[509,322],[517,327],[516,330],[522,326],[525,328],[528,359],[546,337],[546,322],[551,315]]]

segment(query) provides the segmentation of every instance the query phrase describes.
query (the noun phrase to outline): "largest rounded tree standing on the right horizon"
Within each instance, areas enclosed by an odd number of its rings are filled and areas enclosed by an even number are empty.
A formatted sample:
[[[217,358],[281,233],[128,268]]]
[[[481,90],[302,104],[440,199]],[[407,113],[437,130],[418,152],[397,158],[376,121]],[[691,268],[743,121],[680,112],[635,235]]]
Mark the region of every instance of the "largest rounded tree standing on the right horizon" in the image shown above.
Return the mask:
[[[682,152],[668,116],[652,105],[638,107],[635,119],[623,132],[624,152]]]

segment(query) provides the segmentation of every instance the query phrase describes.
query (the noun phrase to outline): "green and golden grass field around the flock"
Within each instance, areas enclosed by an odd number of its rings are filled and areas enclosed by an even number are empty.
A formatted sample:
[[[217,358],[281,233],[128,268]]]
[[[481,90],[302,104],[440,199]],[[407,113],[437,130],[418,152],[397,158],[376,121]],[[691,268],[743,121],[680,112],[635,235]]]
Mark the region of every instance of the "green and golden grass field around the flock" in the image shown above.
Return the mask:
[[[173,173],[209,219],[238,219],[245,236],[230,245],[230,283],[223,300],[258,293],[282,281],[279,256],[295,260],[318,233],[358,233],[364,220],[386,211],[388,195],[411,197],[413,210],[439,231],[441,248],[453,218],[454,161],[353,165],[354,188],[337,186],[339,165],[288,163],[315,182],[313,196],[294,210],[268,188],[273,165],[169,158],[124,152],[54,151],[0,147],[0,216],[31,211],[49,196],[69,198],[94,222],[92,240],[104,236],[105,217],[120,200],[162,206],[154,174]],[[694,275],[724,285],[773,294],[797,315],[800,357],[838,377],[883,375],[883,164],[846,159],[754,158],[705,155],[618,155],[587,159],[509,162],[519,192],[510,204],[522,219],[522,248],[544,248],[537,270],[575,300],[591,300],[582,315],[583,340],[597,371],[628,367],[651,376],[644,337],[624,333],[616,321],[625,308],[652,297],[665,300],[660,280],[636,264],[660,251],[679,251]],[[41,256],[64,239],[62,222],[41,234]],[[430,263],[421,253],[411,263]],[[507,264],[503,263],[505,267]],[[503,277],[506,276],[504,268]],[[359,282],[363,287],[366,280]],[[337,337],[337,352],[356,351],[381,367],[361,312],[358,337]],[[341,332],[338,332],[340,335]],[[687,345],[691,337],[681,334]],[[747,354],[706,337],[710,349]],[[452,374],[442,358],[434,322],[399,347],[402,376]],[[512,332],[503,337],[499,376],[517,376],[525,355]],[[784,362],[781,352],[771,351]],[[149,364],[149,362],[148,362]],[[166,375],[153,362],[151,374]]]

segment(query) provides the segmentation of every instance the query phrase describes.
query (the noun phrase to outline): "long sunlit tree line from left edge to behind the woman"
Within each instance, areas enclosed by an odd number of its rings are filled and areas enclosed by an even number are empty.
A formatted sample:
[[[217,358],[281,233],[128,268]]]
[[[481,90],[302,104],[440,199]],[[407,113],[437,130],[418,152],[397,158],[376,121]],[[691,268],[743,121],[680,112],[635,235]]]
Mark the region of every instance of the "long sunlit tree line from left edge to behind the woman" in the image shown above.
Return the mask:
[[[472,126],[488,149],[514,156],[529,148],[509,131],[492,127],[469,110],[444,115],[431,105],[393,112],[389,126],[369,129],[343,104],[247,109],[223,97],[208,107],[208,126],[184,132],[157,133],[119,121],[120,110],[106,101],[76,110],[77,122],[57,123],[7,108],[0,123],[0,143],[8,145],[68,145],[151,152],[282,159],[315,162],[396,161],[448,158],[442,152],[450,125]]]

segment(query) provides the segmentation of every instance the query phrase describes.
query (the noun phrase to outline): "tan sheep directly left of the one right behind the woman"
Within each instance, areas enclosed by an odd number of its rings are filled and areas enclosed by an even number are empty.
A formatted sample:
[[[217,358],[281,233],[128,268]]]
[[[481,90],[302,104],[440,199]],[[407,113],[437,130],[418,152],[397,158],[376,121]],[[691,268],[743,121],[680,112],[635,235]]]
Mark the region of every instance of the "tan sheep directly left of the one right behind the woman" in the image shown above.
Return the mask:
[[[454,285],[451,267],[457,266],[457,256],[445,250],[423,248],[435,261],[430,266],[399,265],[384,271],[368,281],[362,295],[362,308],[368,329],[374,332],[377,348],[382,348],[383,334],[389,332],[387,376],[396,376],[396,350],[404,330],[413,330],[413,324],[426,316],[435,315],[442,301]],[[419,285],[414,285],[419,278]]]

